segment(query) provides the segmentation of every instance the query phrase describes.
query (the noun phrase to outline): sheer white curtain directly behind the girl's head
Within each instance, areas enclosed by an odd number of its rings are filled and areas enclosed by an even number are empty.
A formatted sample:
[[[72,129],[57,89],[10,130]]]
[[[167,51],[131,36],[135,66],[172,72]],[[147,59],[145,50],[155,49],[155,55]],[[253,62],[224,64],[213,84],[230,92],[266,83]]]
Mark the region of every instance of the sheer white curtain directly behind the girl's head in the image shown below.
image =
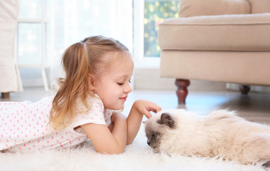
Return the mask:
[[[46,11],[51,86],[63,76],[60,58],[65,48],[85,37],[115,38],[132,53],[132,0],[51,0]]]

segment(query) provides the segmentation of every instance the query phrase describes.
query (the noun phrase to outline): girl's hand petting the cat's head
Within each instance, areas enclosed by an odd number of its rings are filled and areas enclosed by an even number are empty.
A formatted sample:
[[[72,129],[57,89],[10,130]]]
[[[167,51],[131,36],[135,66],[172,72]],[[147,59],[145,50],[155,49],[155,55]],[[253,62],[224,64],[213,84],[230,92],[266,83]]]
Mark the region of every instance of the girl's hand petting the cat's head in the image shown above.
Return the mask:
[[[136,108],[139,113],[144,114],[148,119],[152,117],[150,113],[151,111],[154,113],[161,111],[161,107],[159,107],[156,103],[148,100],[136,100],[132,108]]]

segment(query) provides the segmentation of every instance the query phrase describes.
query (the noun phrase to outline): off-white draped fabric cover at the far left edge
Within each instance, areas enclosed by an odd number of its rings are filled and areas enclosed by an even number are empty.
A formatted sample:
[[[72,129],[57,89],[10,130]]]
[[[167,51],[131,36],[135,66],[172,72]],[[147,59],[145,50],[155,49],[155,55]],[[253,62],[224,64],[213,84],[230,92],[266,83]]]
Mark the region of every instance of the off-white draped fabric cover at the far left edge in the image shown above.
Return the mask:
[[[0,11],[0,92],[21,91],[21,77],[14,59],[18,0],[1,0]]]

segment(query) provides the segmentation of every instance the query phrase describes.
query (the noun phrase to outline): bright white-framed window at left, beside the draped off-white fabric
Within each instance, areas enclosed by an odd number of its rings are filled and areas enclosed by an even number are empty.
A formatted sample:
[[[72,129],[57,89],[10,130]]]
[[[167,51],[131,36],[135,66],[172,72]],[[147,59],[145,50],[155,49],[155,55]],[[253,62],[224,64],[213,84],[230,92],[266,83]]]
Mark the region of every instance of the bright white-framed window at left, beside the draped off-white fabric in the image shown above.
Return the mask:
[[[20,68],[45,65],[45,0],[20,3],[17,62]]]

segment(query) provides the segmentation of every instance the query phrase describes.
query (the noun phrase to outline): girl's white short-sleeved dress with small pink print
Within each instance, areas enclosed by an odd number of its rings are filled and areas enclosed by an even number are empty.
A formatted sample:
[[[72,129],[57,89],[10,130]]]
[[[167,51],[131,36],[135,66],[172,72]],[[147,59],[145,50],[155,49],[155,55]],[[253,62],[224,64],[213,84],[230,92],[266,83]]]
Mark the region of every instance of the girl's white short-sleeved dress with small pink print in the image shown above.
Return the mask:
[[[75,120],[63,130],[53,130],[48,124],[53,97],[36,103],[0,103],[0,151],[28,152],[33,150],[65,148],[87,140],[82,128],[87,123],[111,124],[112,110],[104,109],[102,100],[89,98],[92,108],[88,113],[76,113]]]

